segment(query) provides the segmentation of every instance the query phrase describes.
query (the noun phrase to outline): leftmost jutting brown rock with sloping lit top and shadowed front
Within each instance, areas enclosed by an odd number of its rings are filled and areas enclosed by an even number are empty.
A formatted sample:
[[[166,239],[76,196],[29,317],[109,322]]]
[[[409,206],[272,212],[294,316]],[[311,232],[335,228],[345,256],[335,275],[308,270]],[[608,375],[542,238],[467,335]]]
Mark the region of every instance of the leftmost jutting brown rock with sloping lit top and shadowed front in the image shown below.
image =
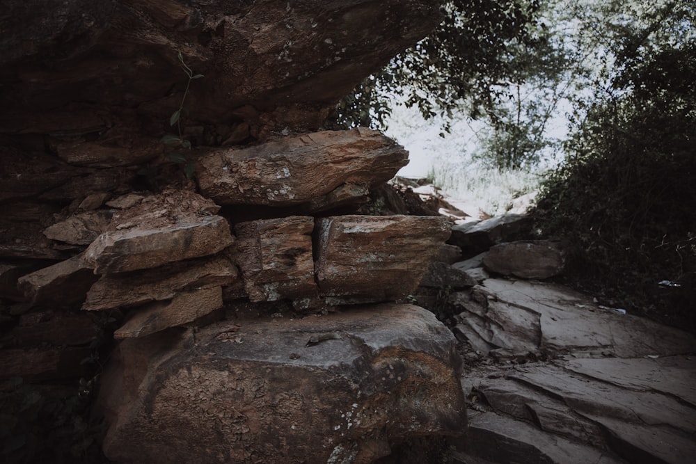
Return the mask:
[[[19,278],[17,287],[29,305],[70,306],[84,300],[88,289],[97,280],[86,266],[84,255],[76,255],[58,264],[39,269]],[[70,291],[65,291],[66,288]],[[28,309],[28,308],[27,308]]]

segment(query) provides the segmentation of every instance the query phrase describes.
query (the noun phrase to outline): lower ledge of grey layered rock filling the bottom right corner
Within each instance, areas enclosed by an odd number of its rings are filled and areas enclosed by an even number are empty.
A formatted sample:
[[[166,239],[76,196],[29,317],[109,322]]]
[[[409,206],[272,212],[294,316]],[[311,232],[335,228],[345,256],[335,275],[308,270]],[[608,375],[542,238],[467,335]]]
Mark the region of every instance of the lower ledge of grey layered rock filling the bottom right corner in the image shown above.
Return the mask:
[[[589,447],[603,459],[690,463],[696,453],[695,362],[688,356],[568,358],[475,369],[470,386],[486,407],[470,419],[468,452],[504,463],[520,449],[554,443],[535,462],[603,462],[574,461],[574,449]],[[493,442],[502,446],[487,449]]]

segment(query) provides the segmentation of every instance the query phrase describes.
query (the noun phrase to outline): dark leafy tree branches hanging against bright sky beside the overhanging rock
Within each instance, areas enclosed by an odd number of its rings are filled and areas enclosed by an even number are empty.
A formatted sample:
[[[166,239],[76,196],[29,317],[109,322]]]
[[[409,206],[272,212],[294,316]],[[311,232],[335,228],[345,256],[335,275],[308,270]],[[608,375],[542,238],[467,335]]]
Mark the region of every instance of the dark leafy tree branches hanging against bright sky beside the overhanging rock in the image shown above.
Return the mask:
[[[520,51],[544,45],[539,9],[539,0],[448,1],[434,33],[363,81],[329,125],[383,127],[394,97],[417,106],[425,118],[451,117],[462,108],[472,118],[491,113],[509,96],[509,83],[528,72]],[[536,61],[541,56],[526,54]]]

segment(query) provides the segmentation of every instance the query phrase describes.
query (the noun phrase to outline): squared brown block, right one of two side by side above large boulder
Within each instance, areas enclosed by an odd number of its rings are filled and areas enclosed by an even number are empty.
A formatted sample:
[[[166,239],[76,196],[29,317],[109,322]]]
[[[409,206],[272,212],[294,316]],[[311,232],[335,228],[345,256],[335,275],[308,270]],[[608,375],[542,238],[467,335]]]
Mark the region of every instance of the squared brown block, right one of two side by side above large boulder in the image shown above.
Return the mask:
[[[411,293],[450,234],[445,218],[334,216],[317,219],[322,296],[388,301]]]

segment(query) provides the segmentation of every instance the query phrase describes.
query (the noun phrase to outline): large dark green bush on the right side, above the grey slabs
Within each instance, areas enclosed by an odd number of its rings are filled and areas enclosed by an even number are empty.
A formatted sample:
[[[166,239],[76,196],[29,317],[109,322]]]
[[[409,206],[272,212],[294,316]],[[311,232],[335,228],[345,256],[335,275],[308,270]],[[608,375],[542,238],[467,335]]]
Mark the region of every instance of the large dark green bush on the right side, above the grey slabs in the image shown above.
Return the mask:
[[[573,278],[696,330],[696,42],[634,57],[588,109],[541,191],[537,227],[572,246]],[[668,280],[680,286],[658,285]]]

